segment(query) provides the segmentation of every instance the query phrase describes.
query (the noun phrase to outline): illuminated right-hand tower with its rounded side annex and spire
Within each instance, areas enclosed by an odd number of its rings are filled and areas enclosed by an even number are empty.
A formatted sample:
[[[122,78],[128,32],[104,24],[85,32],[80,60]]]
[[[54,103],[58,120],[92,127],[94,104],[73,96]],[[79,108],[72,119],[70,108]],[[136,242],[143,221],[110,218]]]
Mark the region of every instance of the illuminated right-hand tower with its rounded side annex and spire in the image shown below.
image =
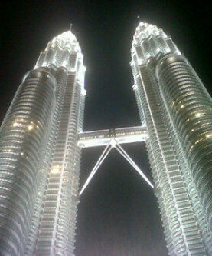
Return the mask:
[[[140,22],[135,97],[170,255],[212,255],[212,101],[171,38]]]

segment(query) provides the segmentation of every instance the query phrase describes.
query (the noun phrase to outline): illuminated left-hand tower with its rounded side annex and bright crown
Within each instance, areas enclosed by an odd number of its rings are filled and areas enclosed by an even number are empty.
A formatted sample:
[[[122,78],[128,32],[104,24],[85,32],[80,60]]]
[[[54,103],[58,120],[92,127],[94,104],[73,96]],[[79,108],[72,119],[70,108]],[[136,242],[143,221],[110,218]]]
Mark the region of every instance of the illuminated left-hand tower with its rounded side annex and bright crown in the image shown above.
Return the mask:
[[[0,254],[73,254],[83,55],[72,32],[48,43],[0,131]]]

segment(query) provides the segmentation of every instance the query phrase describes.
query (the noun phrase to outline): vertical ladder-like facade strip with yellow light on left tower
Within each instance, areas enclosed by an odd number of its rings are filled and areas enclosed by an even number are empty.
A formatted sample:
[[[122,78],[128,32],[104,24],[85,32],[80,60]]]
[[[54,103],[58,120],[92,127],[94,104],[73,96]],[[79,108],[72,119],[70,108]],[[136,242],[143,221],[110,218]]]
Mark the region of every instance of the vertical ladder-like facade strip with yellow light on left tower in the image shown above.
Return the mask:
[[[66,75],[67,77],[67,75]],[[44,206],[41,214],[41,223],[38,231],[38,242],[36,254],[53,254],[53,244],[55,240],[56,224],[55,221],[59,214],[59,201],[62,192],[64,176],[64,155],[67,151],[67,131],[70,115],[70,102],[73,89],[74,75],[69,81],[64,81],[64,101],[60,102],[62,109],[60,112],[60,125],[58,127],[57,141],[54,155],[51,160],[47,184],[44,195]],[[68,86],[69,85],[69,86]],[[54,170],[58,170],[57,172]]]

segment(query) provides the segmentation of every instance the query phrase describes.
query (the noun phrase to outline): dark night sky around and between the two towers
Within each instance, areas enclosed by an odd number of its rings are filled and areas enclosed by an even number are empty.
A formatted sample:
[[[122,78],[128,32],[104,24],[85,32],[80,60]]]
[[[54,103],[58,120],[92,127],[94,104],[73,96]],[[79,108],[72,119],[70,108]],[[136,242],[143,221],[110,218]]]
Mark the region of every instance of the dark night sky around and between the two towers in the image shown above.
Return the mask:
[[[139,125],[129,66],[137,15],[164,29],[211,94],[210,8],[199,1],[8,1],[0,121],[39,52],[73,23],[86,65],[84,131]],[[123,148],[152,180],[144,143]],[[83,150],[80,188],[103,148]],[[166,255],[154,193],[114,149],[80,198],[76,255]]]

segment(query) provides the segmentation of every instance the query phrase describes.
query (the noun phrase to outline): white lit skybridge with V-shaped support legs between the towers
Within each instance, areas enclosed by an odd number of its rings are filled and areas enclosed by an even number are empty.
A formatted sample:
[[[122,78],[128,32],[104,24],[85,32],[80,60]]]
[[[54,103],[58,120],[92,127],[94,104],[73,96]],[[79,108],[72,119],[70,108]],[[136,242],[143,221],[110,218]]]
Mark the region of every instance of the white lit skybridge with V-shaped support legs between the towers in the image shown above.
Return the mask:
[[[98,147],[106,146],[103,150],[103,153],[100,155],[99,159],[96,161],[93,170],[90,172],[89,177],[86,179],[83,188],[80,191],[80,195],[83,194],[83,191],[89,185],[91,179],[96,174],[96,171],[102,165],[103,161],[109,155],[109,152],[115,148],[123,158],[126,158],[126,161],[135,168],[135,171],[144,178],[144,180],[153,188],[152,182],[148,180],[145,174],[142,172],[141,168],[135,164],[135,161],[128,155],[128,153],[122,148],[120,144],[124,143],[133,143],[133,142],[142,142],[148,139],[148,131],[146,127],[135,126],[135,127],[126,127],[126,128],[115,128],[115,129],[106,129],[99,131],[85,131],[78,135],[77,145],[80,148],[89,148],[89,147]]]

